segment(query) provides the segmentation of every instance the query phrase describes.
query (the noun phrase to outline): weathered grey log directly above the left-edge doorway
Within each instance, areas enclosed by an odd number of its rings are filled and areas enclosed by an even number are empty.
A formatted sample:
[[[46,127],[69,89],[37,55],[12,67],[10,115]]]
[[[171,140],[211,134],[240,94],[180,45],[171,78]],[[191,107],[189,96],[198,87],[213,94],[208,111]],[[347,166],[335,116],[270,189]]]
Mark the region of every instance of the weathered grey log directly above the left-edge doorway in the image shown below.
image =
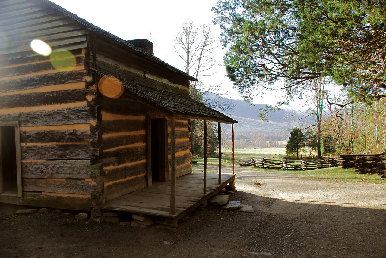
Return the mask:
[[[97,121],[97,108],[86,105],[47,111],[1,114],[0,121],[19,121],[20,126],[51,126],[61,124],[88,124]]]

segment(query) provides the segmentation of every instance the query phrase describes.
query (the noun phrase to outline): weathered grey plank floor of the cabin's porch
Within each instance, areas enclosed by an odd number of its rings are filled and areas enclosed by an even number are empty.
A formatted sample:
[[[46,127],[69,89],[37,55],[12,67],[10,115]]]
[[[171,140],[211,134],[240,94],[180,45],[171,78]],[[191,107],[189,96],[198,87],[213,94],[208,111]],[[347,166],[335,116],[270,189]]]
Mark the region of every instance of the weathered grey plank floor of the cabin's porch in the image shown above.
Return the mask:
[[[218,184],[218,174],[207,173],[207,194],[203,194],[203,173],[193,172],[176,178],[176,214],[169,213],[170,181],[154,182],[151,187],[107,201],[100,208],[178,219],[218,193],[234,178],[234,174],[222,174],[222,184]]]

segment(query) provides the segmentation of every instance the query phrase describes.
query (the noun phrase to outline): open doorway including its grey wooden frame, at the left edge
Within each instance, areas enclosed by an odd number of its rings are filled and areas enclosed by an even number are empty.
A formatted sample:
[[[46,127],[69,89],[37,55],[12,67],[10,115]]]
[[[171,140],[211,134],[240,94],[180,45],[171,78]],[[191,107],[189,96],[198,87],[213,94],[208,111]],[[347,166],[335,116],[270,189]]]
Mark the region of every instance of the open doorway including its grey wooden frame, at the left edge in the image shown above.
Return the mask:
[[[0,122],[0,195],[21,197],[18,122]]]

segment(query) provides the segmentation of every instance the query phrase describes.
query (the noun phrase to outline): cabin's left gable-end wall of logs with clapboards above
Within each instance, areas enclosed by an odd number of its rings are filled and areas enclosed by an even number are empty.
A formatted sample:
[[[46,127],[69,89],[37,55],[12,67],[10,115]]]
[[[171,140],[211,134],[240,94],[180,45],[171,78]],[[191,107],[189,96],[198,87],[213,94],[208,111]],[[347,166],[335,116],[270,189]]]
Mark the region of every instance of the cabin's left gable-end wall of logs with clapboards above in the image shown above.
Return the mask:
[[[20,125],[20,203],[89,209],[104,187],[98,107],[89,101],[96,87],[85,67],[88,32],[38,0],[2,1],[0,17],[0,121]],[[51,62],[31,49],[33,39],[71,54]]]

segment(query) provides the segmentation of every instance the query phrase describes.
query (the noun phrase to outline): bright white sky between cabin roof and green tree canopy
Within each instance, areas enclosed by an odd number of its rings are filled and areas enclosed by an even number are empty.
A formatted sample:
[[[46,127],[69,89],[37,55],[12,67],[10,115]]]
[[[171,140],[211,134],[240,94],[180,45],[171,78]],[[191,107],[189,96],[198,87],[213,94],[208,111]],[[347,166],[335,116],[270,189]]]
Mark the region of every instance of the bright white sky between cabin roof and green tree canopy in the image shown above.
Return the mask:
[[[198,25],[210,24],[213,36],[218,37],[221,29],[213,25],[214,13],[211,10],[217,0],[51,0],[70,12],[84,18],[88,22],[107,30],[124,39],[143,39],[151,34],[154,43],[154,55],[161,60],[184,70],[183,61],[175,53],[174,35],[181,30],[186,21]],[[225,50],[218,48],[215,57],[220,66],[213,68],[215,74],[206,77],[207,85],[221,84],[224,97],[242,99],[232,83],[226,77],[223,66]],[[264,99],[256,97],[255,104],[275,104],[272,94],[264,95]]]

